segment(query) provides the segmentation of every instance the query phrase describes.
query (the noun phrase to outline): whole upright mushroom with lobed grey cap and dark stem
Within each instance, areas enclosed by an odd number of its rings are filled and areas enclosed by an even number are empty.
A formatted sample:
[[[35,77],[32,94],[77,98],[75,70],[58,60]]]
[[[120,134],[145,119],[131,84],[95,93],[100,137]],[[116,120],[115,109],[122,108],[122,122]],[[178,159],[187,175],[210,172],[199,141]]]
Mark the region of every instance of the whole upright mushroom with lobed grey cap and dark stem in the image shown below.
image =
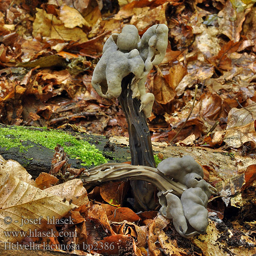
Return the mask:
[[[147,118],[154,95],[146,93],[145,81],[153,65],[163,60],[168,44],[168,27],[151,26],[140,39],[134,25],[126,25],[105,42],[103,54],[93,71],[92,86],[104,98],[117,97],[128,122],[131,163],[155,167]],[[154,186],[131,182],[136,209],[154,209]]]

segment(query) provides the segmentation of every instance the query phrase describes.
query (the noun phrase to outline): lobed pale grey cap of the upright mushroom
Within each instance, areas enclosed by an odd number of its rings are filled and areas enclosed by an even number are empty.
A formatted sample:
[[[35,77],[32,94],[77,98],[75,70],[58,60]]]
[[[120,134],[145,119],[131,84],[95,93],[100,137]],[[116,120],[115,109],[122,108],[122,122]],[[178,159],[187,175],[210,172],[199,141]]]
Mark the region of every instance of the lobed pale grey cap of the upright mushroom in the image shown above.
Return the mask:
[[[134,74],[132,97],[140,99],[140,111],[151,115],[154,95],[146,93],[145,81],[153,65],[163,61],[168,44],[168,27],[151,26],[142,36],[134,25],[126,25],[121,33],[112,34],[105,42],[103,55],[93,71],[92,86],[96,92],[111,99],[122,92],[122,79]]]

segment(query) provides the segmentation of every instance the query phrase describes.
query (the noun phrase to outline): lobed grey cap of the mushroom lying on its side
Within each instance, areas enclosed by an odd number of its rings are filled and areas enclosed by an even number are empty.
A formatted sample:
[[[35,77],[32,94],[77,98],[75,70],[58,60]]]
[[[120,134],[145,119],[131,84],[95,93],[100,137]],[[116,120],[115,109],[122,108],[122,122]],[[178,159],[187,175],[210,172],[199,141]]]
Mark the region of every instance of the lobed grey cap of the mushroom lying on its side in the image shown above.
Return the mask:
[[[162,206],[160,213],[172,218],[180,236],[189,238],[205,233],[208,226],[208,199],[217,190],[203,179],[204,172],[200,164],[191,156],[169,157],[160,162],[157,169],[188,188],[180,198],[171,190],[158,192]]]

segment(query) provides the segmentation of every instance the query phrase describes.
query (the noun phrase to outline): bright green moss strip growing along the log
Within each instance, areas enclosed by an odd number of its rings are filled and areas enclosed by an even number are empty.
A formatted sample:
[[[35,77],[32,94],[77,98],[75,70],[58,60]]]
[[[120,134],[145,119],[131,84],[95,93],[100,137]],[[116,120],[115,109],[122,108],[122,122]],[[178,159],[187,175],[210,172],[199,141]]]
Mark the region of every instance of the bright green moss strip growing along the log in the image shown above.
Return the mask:
[[[90,145],[84,140],[76,140],[76,137],[64,131],[49,131],[45,127],[40,129],[28,129],[22,126],[0,128],[0,147],[2,148],[19,147],[22,152],[32,147],[32,145],[26,145],[28,140],[53,150],[58,143],[70,157],[81,159],[86,166],[100,165],[108,161],[95,145]]]

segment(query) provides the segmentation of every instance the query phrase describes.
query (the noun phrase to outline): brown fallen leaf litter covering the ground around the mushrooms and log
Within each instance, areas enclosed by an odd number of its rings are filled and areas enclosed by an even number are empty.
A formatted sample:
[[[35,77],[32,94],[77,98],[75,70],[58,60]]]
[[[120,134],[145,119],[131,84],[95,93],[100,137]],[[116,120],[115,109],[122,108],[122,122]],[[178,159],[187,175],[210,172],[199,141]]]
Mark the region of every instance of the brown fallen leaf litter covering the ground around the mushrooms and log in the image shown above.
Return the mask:
[[[221,196],[209,204],[209,232],[184,240],[160,215],[143,213],[142,218],[123,207],[128,184],[104,184],[87,196],[81,182],[65,182],[61,176],[66,169],[72,171],[65,157],[52,169],[60,180],[41,174],[36,183],[15,161],[1,158],[1,184],[13,189],[8,201],[1,200],[1,211],[8,207],[12,214],[24,212],[28,218],[45,217],[51,209],[58,218],[69,214],[76,224],[43,225],[43,230],[77,231],[78,237],[64,239],[66,245],[102,241],[117,248],[119,243],[119,251],[95,250],[106,255],[255,253],[250,245],[256,218],[250,213],[256,204],[253,1],[6,0],[0,11],[0,122],[57,128],[68,119],[83,131],[116,136],[128,135],[121,107],[115,99],[99,97],[91,86],[103,44],[126,24],[137,26],[142,35],[149,26],[165,23],[167,53],[146,81],[147,90],[155,95],[149,118],[154,150],[164,158],[169,151],[172,156],[191,154]],[[186,121],[196,84],[195,105]],[[17,194],[14,184],[23,195]],[[52,198],[54,204],[49,204]],[[35,230],[35,225],[27,228]],[[48,240],[41,244],[60,244],[58,237]],[[92,249],[87,252],[93,255]]]

